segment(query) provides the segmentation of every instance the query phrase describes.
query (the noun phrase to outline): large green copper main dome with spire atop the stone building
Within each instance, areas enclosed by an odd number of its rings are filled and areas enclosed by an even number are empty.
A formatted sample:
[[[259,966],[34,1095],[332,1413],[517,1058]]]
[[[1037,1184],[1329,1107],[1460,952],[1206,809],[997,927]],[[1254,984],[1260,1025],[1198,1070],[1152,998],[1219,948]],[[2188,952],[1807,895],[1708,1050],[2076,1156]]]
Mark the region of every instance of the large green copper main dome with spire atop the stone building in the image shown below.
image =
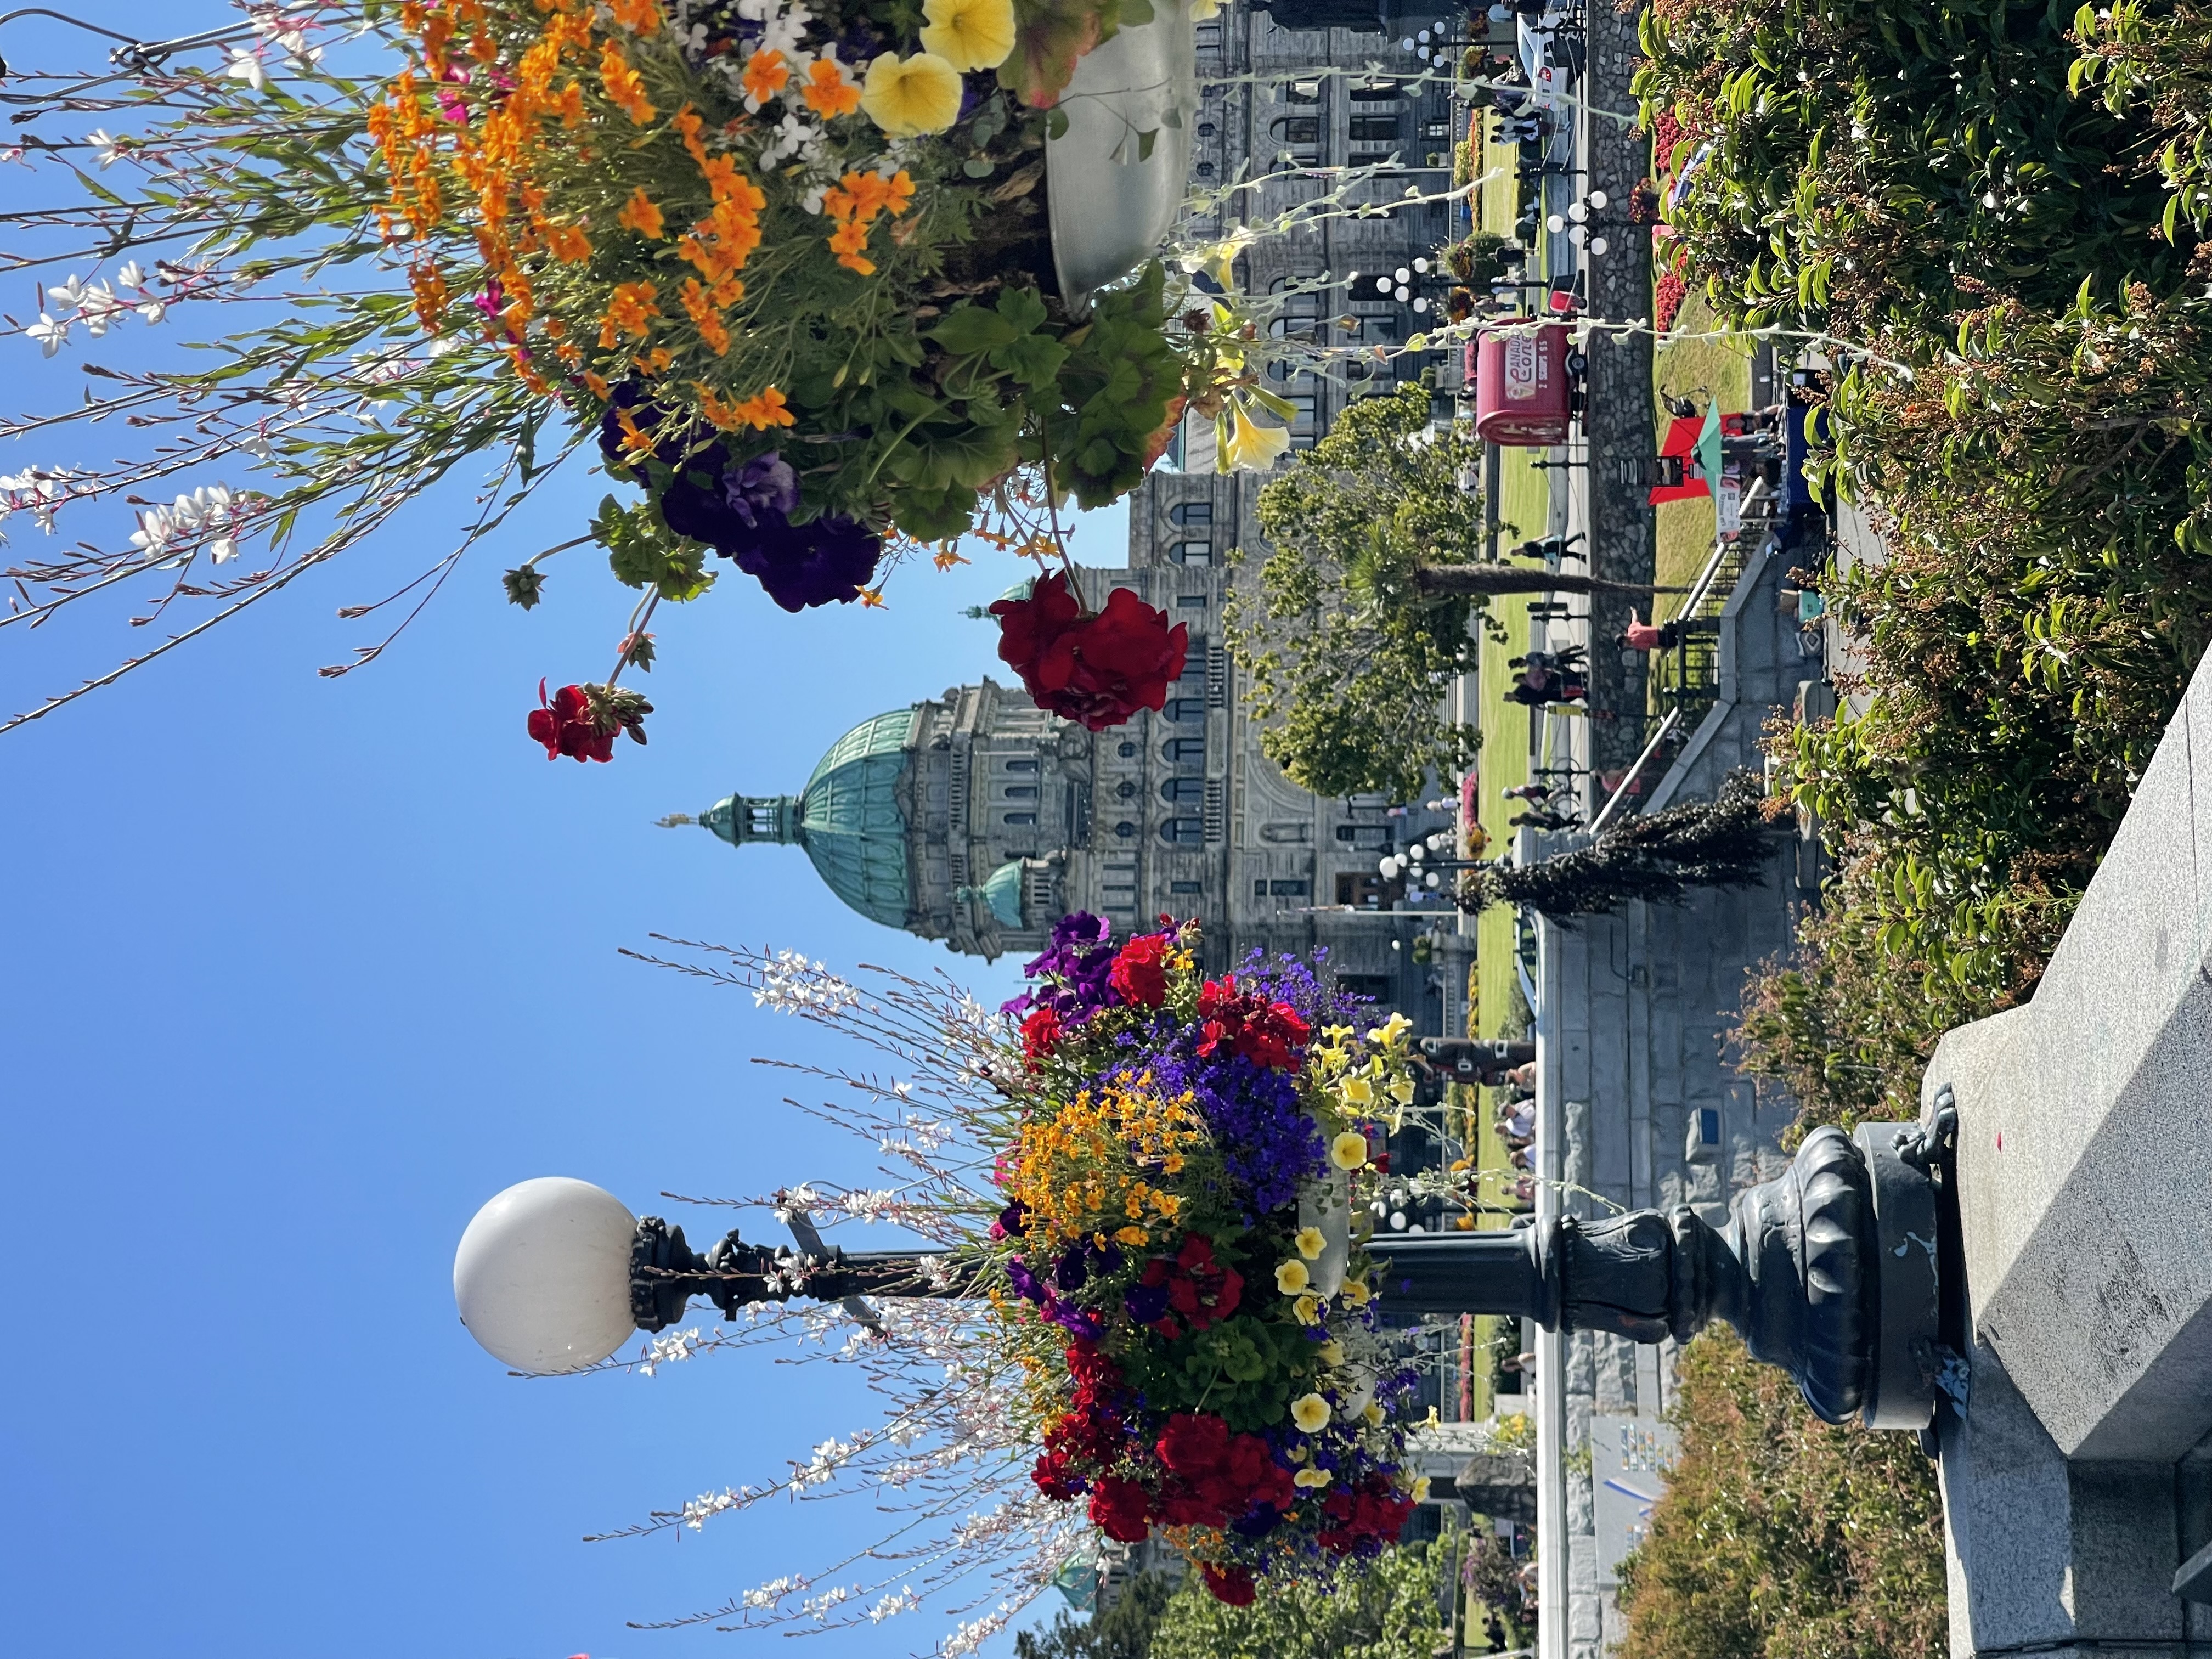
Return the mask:
[[[914,710],[900,708],[854,726],[830,745],[796,796],[728,796],[699,823],[743,847],[748,841],[799,843],[830,891],[885,927],[905,927],[907,818],[898,781],[907,770]]]

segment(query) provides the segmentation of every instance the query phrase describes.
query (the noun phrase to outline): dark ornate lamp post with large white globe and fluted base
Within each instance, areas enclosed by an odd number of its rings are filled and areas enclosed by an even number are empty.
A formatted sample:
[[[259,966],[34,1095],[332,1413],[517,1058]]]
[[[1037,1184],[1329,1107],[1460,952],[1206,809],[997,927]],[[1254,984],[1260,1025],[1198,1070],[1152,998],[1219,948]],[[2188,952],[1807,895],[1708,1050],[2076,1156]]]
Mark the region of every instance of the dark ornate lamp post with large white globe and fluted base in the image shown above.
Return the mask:
[[[1924,1429],[1940,1367],[1938,1190],[1951,1121],[1818,1128],[1790,1170],[1741,1192],[1723,1228],[1690,1206],[1606,1221],[1551,1217],[1513,1232],[1394,1239],[1383,1305],[1409,1314],[1515,1314],[1546,1329],[1686,1343],[1714,1318],[1796,1378],[1829,1422]],[[684,1230],[633,1219],[584,1181],[540,1179],[487,1203],[462,1237],[453,1294],[471,1334],[524,1371],[573,1371],[633,1329],[657,1332],[706,1296],[726,1316],[763,1301],[969,1296],[956,1252],[843,1252],[794,1217],[801,1250],[730,1232],[703,1256]]]

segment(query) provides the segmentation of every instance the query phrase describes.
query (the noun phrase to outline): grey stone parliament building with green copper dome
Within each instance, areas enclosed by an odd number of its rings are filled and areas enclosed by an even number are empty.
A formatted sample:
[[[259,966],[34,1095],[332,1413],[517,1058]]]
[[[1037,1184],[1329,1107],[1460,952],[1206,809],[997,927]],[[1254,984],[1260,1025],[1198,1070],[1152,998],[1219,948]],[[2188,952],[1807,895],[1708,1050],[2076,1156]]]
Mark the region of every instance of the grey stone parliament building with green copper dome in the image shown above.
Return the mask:
[[[1363,186],[1376,201],[1402,199],[1409,184],[1449,186],[1455,117],[1442,82],[1418,82],[1418,53],[1429,49],[1407,53],[1374,31],[1314,22],[1283,29],[1239,7],[1199,27],[1194,186],[1261,179],[1243,215],[1256,221],[1332,184],[1312,168],[1400,157],[1402,173]],[[1427,22],[1398,27],[1411,38]],[[1243,254],[1241,283],[1263,294],[1323,272],[1411,265],[1464,230],[1451,212],[1464,217],[1464,206],[1396,206],[1389,217],[1332,219],[1265,241]],[[1212,234],[1228,223],[1194,228]],[[1325,323],[1323,294],[1294,299],[1274,327],[1327,325],[1336,343],[1396,343],[1425,321],[1411,296],[1363,288],[1367,296],[1327,294],[1329,319],[1356,319],[1356,334]],[[1400,356],[1374,365],[1371,378],[1281,380],[1296,409],[1292,442],[1310,447],[1347,398],[1394,392],[1420,369]],[[1383,852],[1453,818],[1420,803],[1323,801],[1261,754],[1221,606],[1225,555],[1259,549],[1252,509],[1265,478],[1217,476],[1210,425],[1194,422],[1181,449],[1186,471],[1161,467],[1130,495],[1128,568],[1091,573],[1095,593],[1128,586],[1188,624],[1190,657],[1161,712],[1093,734],[984,677],[852,728],[796,794],[732,794],[701,823],[734,847],[805,847],[856,911],[953,951],[1033,956],[1077,909],[1106,916],[1117,936],[1172,914],[1201,922],[1212,971],[1252,949],[1327,949],[1349,989],[1402,1009],[1420,1031],[1458,1029],[1458,1009],[1444,1024],[1438,973],[1413,960],[1440,907],[1402,905],[1376,874]]]

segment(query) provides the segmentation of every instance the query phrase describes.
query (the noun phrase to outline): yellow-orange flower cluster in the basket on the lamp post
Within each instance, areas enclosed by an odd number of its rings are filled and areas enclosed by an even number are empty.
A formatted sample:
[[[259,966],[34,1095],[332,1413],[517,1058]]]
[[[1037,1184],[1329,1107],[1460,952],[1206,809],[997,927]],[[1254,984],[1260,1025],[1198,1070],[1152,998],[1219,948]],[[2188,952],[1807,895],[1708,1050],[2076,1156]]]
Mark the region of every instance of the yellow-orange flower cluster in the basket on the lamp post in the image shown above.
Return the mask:
[[[1179,1175],[1203,1139],[1197,1099],[1161,1095],[1150,1073],[1084,1088],[1055,1115],[1022,1126],[1006,1197],[1029,1210],[1029,1234],[1048,1248],[1079,1239],[1144,1248],[1181,1208],[1144,1168]]]

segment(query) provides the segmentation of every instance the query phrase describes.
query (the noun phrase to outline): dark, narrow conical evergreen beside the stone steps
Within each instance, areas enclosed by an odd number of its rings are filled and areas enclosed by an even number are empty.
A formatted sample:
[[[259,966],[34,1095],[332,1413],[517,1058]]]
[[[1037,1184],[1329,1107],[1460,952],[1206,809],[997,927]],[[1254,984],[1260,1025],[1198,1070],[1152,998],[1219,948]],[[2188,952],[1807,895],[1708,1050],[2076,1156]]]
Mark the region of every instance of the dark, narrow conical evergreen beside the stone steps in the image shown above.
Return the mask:
[[[1765,878],[1770,852],[1759,776],[1732,772],[1712,801],[1621,818],[1588,847],[1533,865],[1489,865],[1460,905],[1528,905],[1553,920],[1604,916],[1630,898],[1666,902],[1692,887],[1752,887]]]

